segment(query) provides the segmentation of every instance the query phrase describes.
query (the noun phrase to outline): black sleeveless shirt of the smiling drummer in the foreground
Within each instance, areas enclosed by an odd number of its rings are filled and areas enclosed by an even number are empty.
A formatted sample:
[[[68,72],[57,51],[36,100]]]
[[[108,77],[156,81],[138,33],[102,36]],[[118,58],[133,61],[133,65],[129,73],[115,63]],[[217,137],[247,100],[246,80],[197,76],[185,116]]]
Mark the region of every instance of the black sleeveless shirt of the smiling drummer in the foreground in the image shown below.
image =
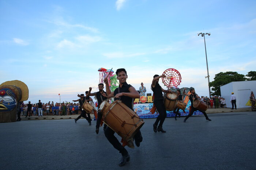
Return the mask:
[[[132,87],[132,85],[127,84],[127,82],[125,82],[121,88],[119,85],[119,87],[116,90],[114,90],[114,96],[116,96],[116,94],[118,93],[129,93],[130,87]],[[121,98],[114,98],[114,100],[121,100],[125,105],[127,105],[130,109],[133,110],[133,98],[128,96],[121,96]]]

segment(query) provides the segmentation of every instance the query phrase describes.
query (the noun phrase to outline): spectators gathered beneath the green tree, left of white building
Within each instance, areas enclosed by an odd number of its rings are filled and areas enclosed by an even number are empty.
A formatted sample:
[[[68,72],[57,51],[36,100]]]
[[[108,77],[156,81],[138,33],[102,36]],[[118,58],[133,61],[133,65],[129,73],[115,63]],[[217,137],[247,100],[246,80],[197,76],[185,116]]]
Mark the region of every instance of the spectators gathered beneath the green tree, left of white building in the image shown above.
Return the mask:
[[[208,108],[227,108],[225,98],[220,96],[201,96],[200,100],[206,103]]]

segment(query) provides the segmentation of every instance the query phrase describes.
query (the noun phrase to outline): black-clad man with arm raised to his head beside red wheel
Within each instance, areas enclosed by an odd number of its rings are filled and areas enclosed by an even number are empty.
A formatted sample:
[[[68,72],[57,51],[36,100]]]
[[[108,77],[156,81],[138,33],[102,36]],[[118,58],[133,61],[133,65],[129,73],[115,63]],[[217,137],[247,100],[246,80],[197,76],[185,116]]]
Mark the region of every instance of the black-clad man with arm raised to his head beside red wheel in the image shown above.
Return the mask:
[[[163,122],[165,121],[165,117],[167,116],[166,115],[166,109],[165,109],[165,105],[163,104],[163,93],[167,93],[167,92],[171,92],[171,90],[164,90],[160,85],[159,85],[159,78],[161,77],[166,77],[165,75],[155,75],[154,76],[154,79],[152,81],[152,84],[151,84],[151,88],[154,92],[154,96],[155,96],[155,99],[154,99],[154,105],[155,107],[157,107],[157,111],[159,113],[159,116],[157,117],[157,120],[155,120],[155,123],[153,124],[153,130],[154,132],[162,132],[162,133],[165,133],[166,131],[163,130]],[[160,123],[159,123],[160,121]],[[159,123],[159,125],[158,125]],[[157,127],[158,125],[158,127]]]

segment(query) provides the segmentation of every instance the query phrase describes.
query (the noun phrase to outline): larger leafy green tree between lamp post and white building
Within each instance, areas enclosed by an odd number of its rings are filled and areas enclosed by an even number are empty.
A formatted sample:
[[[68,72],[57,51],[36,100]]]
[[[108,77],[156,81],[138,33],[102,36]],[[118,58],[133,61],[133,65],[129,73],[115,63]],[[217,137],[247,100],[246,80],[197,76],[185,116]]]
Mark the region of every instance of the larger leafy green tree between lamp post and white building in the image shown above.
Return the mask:
[[[246,78],[243,74],[237,72],[220,72],[215,74],[214,81],[210,82],[211,95],[221,96],[221,86],[233,81],[245,81]]]

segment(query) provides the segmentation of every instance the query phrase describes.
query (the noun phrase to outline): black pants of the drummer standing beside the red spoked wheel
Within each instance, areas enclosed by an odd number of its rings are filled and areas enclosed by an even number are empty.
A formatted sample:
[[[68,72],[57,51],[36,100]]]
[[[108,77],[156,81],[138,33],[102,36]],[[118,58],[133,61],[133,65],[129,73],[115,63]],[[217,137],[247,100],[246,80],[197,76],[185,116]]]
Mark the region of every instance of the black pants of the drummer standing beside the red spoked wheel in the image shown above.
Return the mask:
[[[159,113],[157,120],[155,120],[155,125],[158,125],[158,122],[160,121],[159,126],[162,127],[165,117],[167,116],[165,105],[163,104],[163,100],[154,100],[154,105],[157,107],[157,111]]]

